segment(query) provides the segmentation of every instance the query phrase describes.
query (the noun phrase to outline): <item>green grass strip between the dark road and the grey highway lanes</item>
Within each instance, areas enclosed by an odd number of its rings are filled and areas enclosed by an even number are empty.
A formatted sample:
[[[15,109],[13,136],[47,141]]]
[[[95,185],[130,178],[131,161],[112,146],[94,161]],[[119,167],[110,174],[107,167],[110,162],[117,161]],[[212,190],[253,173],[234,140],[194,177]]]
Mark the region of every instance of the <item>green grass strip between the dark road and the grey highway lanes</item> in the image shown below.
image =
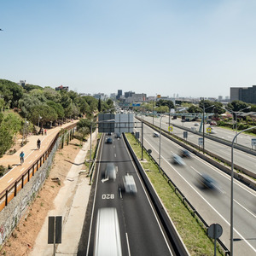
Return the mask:
[[[135,137],[130,133],[126,133],[125,135],[135,154],[137,154],[137,158],[140,159],[142,156],[142,148],[139,143],[137,143]],[[146,172],[148,178],[153,184],[163,205],[166,207],[166,211],[169,213],[170,218],[172,218],[172,222],[175,224],[189,253],[196,256],[213,255],[213,240],[208,238],[203,224],[201,224],[200,220],[192,216],[189,209],[174,192],[172,186],[167,183],[166,178],[159,173],[158,166],[150,160],[145,151],[143,153],[143,161],[141,161],[141,165],[144,170],[148,171]],[[221,251],[221,248],[217,245],[216,255],[224,255],[224,253],[219,250]]]

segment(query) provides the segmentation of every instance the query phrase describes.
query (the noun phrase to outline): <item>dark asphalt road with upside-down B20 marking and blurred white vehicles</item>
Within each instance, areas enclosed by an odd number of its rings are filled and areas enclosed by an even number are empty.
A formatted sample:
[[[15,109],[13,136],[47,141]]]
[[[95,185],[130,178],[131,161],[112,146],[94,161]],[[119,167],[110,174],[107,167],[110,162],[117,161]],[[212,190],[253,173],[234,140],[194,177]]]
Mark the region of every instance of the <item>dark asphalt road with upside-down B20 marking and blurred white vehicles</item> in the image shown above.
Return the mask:
[[[104,143],[100,160],[96,166],[96,189],[92,207],[90,235],[86,255],[93,255],[96,214],[99,208],[115,207],[118,212],[122,255],[174,255],[172,246],[154,213],[154,208],[143,189],[140,177],[127,152],[123,138],[113,143]],[[106,140],[106,137],[105,137]],[[108,163],[114,163],[117,170],[115,181],[104,175]],[[137,194],[124,194],[122,177],[129,174],[137,184]]]

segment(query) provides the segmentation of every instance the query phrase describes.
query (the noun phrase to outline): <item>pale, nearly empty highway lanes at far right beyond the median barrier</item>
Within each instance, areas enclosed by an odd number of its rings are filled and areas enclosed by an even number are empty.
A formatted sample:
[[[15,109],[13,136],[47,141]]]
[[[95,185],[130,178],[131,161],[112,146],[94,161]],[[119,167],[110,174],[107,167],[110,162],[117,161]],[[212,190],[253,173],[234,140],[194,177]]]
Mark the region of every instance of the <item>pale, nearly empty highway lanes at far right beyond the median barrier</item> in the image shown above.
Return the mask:
[[[153,119],[152,117],[143,117],[144,120],[152,123]],[[175,122],[173,122],[175,121]],[[198,131],[199,126],[195,126],[195,122],[184,122],[182,123],[180,119],[178,120],[172,120],[171,119],[171,124],[177,124],[177,125],[182,125],[184,124],[187,127],[195,127]],[[160,126],[160,118],[154,118],[154,125]],[[164,116],[161,119],[161,128],[168,131],[168,126],[169,126],[169,117]],[[206,125],[207,127],[207,125]],[[225,140],[231,141],[231,138],[235,136],[233,131],[225,130],[222,128],[214,127],[214,131],[216,131],[216,134],[212,134],[211,136],[216,136],[216,137],[221,137],[224,138]],[[177,128],[176,126],[173,126],[173,134],[177,135],[178,137],[183,138],[183,129]],[[207,132],[206,132],[207,134]],[[202,137],[196,135],[195,133],[188,132],[188,138],[187,140],[191,143],[195,143],[198,145],[198,138]],[[242,143],[243,145],[248,147],[248,143],[251,143],[252,136],[248,136],[246,134],[241,134],[238,136],[238,143]],[[213,154],[220,155],[226,160],[231,161],[231,148],[229,146],[226,146],[222,143],[217,143],[212,141],[211,139],[205,138],[205,148],[209,151],[211,151]],[[253,154],[247,154],[245,152],[242,152],[241,150],[238,150],[234,148],[234,163],[238,166],[242,166],[246,168],[248,171],[253,172],[256,174],[256,156]]]

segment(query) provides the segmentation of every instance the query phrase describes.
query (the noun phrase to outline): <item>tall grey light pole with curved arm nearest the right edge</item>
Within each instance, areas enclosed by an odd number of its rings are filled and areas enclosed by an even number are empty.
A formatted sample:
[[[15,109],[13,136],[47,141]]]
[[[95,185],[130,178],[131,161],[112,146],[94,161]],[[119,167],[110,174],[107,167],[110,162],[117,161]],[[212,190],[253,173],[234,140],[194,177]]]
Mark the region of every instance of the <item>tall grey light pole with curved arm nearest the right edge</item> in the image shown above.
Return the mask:
[[[235,137],[232,140],[232,146],[231,146],[231,191],[230,191],[230,256],[233,256],[233,179],[234,179],[234,143],[236,140],[236,137],[243,131],[248,131],[256,128],[256,126],[247,128],[245,130],[239,131]]]

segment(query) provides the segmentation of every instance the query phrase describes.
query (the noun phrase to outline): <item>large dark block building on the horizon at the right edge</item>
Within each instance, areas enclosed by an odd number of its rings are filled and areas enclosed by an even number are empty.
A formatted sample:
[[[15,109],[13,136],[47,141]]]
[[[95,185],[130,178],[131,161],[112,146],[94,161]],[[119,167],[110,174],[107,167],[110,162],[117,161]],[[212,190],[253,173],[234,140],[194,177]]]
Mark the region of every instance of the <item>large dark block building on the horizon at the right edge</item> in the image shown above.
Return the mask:
[[[233,101],[256,104],[256,85],[253,87],[230,87],[230,102]]]

